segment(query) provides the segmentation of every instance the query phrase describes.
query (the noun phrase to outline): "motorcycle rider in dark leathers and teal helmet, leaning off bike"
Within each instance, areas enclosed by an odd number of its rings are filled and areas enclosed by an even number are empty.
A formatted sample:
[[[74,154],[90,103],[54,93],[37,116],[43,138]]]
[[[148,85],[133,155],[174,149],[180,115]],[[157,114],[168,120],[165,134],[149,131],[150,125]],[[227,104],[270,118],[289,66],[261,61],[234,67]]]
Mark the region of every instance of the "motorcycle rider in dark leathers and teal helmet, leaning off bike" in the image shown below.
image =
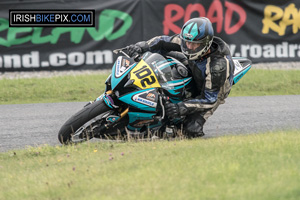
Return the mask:
[[[145,51],[181,51],[186,55],[196,95],[180,103],[166,103],[166,114],[171,118],[186,116],[183,130],[189,137],[204,136],[204,123],[225,103],[232,87],[234,64],[228,45],[214,36],[208,18],[199,17],[187,21],[180,34],[157,36],[128,47],[130,56]]]

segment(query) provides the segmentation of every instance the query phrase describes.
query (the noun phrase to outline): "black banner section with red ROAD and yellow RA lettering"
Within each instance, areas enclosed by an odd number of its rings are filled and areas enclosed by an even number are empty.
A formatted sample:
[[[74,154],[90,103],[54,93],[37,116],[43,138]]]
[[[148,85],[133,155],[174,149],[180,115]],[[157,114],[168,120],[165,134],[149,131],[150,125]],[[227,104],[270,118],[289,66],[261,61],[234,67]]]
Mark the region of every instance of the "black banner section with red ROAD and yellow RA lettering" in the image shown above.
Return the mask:
[[[153,30],[178,34],[184,22],[201,16],[211,20],[215,35],[229,44],[233,56],[248,57],[254,63],[300,61],[300,1],[146,0],[145,10],[158,13],[145,18],[146,38]]]

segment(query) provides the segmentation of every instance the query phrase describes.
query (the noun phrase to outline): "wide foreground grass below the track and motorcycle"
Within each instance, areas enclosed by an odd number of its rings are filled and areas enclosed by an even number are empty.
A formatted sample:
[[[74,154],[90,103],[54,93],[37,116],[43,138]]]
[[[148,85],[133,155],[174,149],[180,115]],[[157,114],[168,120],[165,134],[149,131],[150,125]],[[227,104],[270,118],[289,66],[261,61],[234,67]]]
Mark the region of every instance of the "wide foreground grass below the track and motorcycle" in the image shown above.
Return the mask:
[[[299,131],[0,153],[0,199],[300,198]]]

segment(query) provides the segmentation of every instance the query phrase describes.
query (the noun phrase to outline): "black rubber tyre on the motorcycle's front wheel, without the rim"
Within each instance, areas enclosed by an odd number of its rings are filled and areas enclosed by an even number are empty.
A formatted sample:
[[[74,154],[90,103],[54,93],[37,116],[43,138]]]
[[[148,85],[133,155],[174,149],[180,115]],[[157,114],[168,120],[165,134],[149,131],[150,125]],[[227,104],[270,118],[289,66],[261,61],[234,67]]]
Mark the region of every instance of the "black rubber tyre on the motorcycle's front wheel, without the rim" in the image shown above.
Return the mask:
[[[74,134],[80,127],[98,115],[111,110],[103,100],[96,101],[90,105],[85,106],[68,121],[64,123],[58,132],[58,140],[62,144],[73,143],[71,140]],[[91,138],[87,138],[91,139]]]

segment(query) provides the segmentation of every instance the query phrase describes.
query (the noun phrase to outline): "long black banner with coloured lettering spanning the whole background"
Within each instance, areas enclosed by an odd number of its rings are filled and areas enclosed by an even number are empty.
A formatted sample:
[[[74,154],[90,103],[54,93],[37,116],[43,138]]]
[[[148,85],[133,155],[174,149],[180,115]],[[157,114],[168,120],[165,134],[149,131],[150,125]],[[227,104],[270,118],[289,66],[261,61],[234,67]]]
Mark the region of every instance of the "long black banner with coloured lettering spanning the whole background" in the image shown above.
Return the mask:
[[[65,0],[0,2],[0,71],[110,69],[113,50],[180,33],[207,17],[233,56],[300,61],[300,2],[292,0]],[[10,27],[9,10],[95,10],[95,27]]]

